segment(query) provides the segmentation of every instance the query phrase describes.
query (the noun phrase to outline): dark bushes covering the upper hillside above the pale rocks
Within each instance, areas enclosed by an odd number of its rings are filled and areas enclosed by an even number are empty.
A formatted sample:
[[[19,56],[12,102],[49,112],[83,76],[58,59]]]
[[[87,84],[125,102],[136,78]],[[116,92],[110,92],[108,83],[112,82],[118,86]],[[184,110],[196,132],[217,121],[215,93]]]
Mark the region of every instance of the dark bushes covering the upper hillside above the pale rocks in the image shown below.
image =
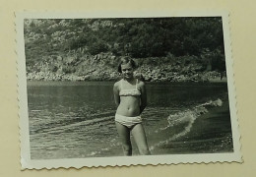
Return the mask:
[[[221,17],[26,20],[25,39],[28,65],[51,55],[111,52],[133,58],[194,56],[188,58],[205,69],[225,70]]]

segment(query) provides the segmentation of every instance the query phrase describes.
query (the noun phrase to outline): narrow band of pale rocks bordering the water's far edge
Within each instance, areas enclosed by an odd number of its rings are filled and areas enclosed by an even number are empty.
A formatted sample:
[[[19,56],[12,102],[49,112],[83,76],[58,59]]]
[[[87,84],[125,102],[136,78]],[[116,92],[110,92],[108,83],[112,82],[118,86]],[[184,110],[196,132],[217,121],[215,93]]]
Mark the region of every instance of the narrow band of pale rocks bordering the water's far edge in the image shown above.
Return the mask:
[[[161,69],[135,72],[135,77],[146,82],[224,82],[219,72],[191,73],[187,75],[178,72],[162,72]],[[27,79],[31,81],[117,81],[121,78],[115,71],[95,71],[90,75],[78,76],[76,74],[56,74],[52,72],[28,73]]]

